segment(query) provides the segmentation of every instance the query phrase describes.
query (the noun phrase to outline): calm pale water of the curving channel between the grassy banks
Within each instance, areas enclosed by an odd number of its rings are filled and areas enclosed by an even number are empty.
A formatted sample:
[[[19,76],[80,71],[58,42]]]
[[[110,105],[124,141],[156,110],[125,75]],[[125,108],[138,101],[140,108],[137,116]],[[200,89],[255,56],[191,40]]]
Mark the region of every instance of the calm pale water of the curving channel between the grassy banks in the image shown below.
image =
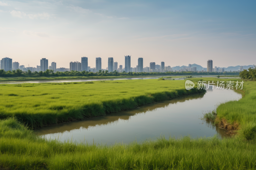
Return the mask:
[[[223,129],[200,118],[202,112],[212,111],[216,104],[228,100],[239,100],[242,95],[233,90],[207,90],[205,94],[194,94],[173,100],[152,103],[136,109],[84,121],[68,122],[36,129],[36,134],[61,141],[94,141],[103,144],[129,143],[164,135],[191,137],[228,136]],[[86,142],[85,141],[85,142]]]

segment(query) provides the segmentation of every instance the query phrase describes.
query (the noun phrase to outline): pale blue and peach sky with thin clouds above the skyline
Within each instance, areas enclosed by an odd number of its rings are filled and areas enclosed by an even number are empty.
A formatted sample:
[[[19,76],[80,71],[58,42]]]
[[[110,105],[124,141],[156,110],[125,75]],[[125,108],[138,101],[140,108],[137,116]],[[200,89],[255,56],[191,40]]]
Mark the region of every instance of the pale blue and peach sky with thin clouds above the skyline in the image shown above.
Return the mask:
[[[0,0],[0,58],[36,67],[108,57],[131,67],[256,64],[256,1]]]

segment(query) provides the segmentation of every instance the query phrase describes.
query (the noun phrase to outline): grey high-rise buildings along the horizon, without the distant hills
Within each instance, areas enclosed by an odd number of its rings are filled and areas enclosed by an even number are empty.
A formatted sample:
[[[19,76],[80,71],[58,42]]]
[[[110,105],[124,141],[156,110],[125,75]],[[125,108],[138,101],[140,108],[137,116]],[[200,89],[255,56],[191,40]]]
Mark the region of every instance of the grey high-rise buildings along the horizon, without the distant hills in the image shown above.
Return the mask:
[[[136,67],[131,67],[131,56],[130,55],[125,55],[124,56],[124,67],[123,65],[119,65],[118,63],[114,62],[113,57],[108,57],[108,67],[106,69],[102,69],[101,67],[101,58],[97,57],[96,58],[96,66],[91,68],[88,66],[88,57],[81,57],[81,62],[70,62],[69,63],[69,68],[57,68],[56,63],[52,62],[51,65],[49,66],[48,64],[48,59],[42,58],[40,60],[40,65],[37,65],[36,67],[25,67],[24,65],[20,65],[19,62],[12,62],[11,58],[5,57],[2,58],[0,61],[0,66],[1,69],[4,69],[5,71],[12,71],[12,70],[17,70],[20,69],[22,71],[46,71],[47,69],[53,70],[54,72],[60,71],[89,71],[89,72],[98,72],[99,70],[108,70],[108,72],[113,72],[116,70],[117,72],[167,72],[167,71],[194,71],[194,72],[224,72],[224,68],[220,67],[214,67],[212,66],[212,60],[207,61],[207,69],[205,70],[196,70],[196,67],[191,67],[191,64],[188,65],[188,67],[183,67],[183,69],[180,70],[173,70],[171,66],[165,66],[164,62],[161,62],[161,65],[156,64],[155,62],[149,63],[149,67],[143,67],[143,58],[138,58],[138,65]],[[242,71],[243,66],[240,67],[240,70]]]

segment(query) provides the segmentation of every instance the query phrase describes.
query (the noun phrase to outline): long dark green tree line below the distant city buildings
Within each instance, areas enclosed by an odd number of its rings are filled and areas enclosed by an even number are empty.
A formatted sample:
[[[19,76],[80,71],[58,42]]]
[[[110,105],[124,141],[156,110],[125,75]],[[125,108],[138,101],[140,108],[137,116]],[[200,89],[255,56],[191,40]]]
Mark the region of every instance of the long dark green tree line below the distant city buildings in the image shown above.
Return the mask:
[[[182,71],[182,72],[108,72],[108,70],[99,70],[96,73],[89,71],[56,71],[46,70],[46,71],[22,71],[20,69],[12,71],[0,70],[0,77],[66,77],[66,76],[148,76],[148,75],[238,75],[239,72],[194,72],[194,71]]]

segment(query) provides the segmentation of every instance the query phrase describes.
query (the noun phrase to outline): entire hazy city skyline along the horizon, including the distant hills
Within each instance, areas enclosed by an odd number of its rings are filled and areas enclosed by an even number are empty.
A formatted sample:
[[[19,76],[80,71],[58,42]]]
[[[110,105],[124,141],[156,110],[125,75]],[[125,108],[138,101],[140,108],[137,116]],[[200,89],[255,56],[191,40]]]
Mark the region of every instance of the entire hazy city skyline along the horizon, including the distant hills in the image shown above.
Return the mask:
[[[19,62],[7,62],[7,61],[12,61],[11,58],[5,57],[2,58],[1,60],[1,69],[4,69],[5,71],[8,71],[8,69],[11,70],[16,70],[17,68],[19,68],[20,70],[25,69],[26,70],[31,70],[33,71],[45,71],[47,70],[47,66],[48,66],[48,59],[46,58],[42,58],[40,59],[40,65],[36,66],[36,67],[25,67],[24,65],[20,65]],[[9,63],[9,64],[8,64]],[[98,63],[98,64],[97,64]],[[125,56],[125,61],[124,63],[126,65],[130,65],[131,63],[131,56]],[[4,65],[5,64],[5,65]],[[75,64],[75,65],[74,65]],[[118,63],[114,62],[113,57],[108,57],[108,67],[106,69],[103,69],[101,67],[101,58],[98,57],[96,58],[96,65],[98,65],[98,68],[93,68],[91,66],[88,66],[88,58],[87,57],[81,57],[81,63],[79,61],[76,62],[70,62],[69,63],[69,68],[64,68],[64,67],[60,67],[57,68],[56,67],[56,62],[52,62],[51,65],[48,67],[49,70],[53,70],[53,71],[67,71],[67,70],[74,70],[74,71],[92,71],[92,72],[97,72],[99,70],[108,70],[108,72],[113,72],[114,70],[119,71],[118,68]],[[147,64],[146,64],[147,65]],[[192,64],[192,65],[197,65],[197,64]],[[28,65],[29,66],[29,65]],[[110,67],[109,67],[110,66]],[[142,69],[140,70],[140,66],[142,67]],[[123,69],[123,71],[125,72],[147,72],[146,70],[148,69],[151,70],[151,72],[164,72],[164,70],[171,70],[171,71],[207,71],[207,72],[221,72],[219,66],[214,66],[213,68],[213,64],[212,64],[212,60],[208,60],[207,61],[207,67],[202,67],[200,65],[198,65],[199,68],[196,69],[196,66],[191,67],[191,64],[188,64],[188,66],[182,65],[182,66],[164,66],[164,62],[161,62],[161,65],[156,64],[155,62],[150,62],[149,63],[149,67],[144,67],[143,68],[143,58],[138,58],[138,65],[136,65],[136,67],[130,67],[130,69]],[[237,69],[237,66],[239,66],[239,68]],[[237,65],[235,66],[235,70],[234,68],[231,68],[232,71],[242,71],[243,70],[243,66]],[[247,69],[249,67],[253,67],[253,65],[244,65]],[[8,67],[8,68],[7,68]],[[84,68],[83,68],[84,67]],[[180,67],[180,68],[176,68],[176,67]],[[182,68],[183,67],[183,68]],[[229,67],[229,66],[228,66]],[[233,67],[233,66],[231,66]],[[86,69],[87,68],[87,69]],[[172,69],[173,68],[173,69]],[[176,69],[174,69],[176,68]],[[224,70],[225,67],[223,67],[222,70]],[[145,70],[146,69],[146,70]],[[230,71],[231,71],[230,70]],[[121,70],[122,71],[122,70]],[[229,70],[226,70],[229,71]],[[224,72],[224,71],[222,71]]]

